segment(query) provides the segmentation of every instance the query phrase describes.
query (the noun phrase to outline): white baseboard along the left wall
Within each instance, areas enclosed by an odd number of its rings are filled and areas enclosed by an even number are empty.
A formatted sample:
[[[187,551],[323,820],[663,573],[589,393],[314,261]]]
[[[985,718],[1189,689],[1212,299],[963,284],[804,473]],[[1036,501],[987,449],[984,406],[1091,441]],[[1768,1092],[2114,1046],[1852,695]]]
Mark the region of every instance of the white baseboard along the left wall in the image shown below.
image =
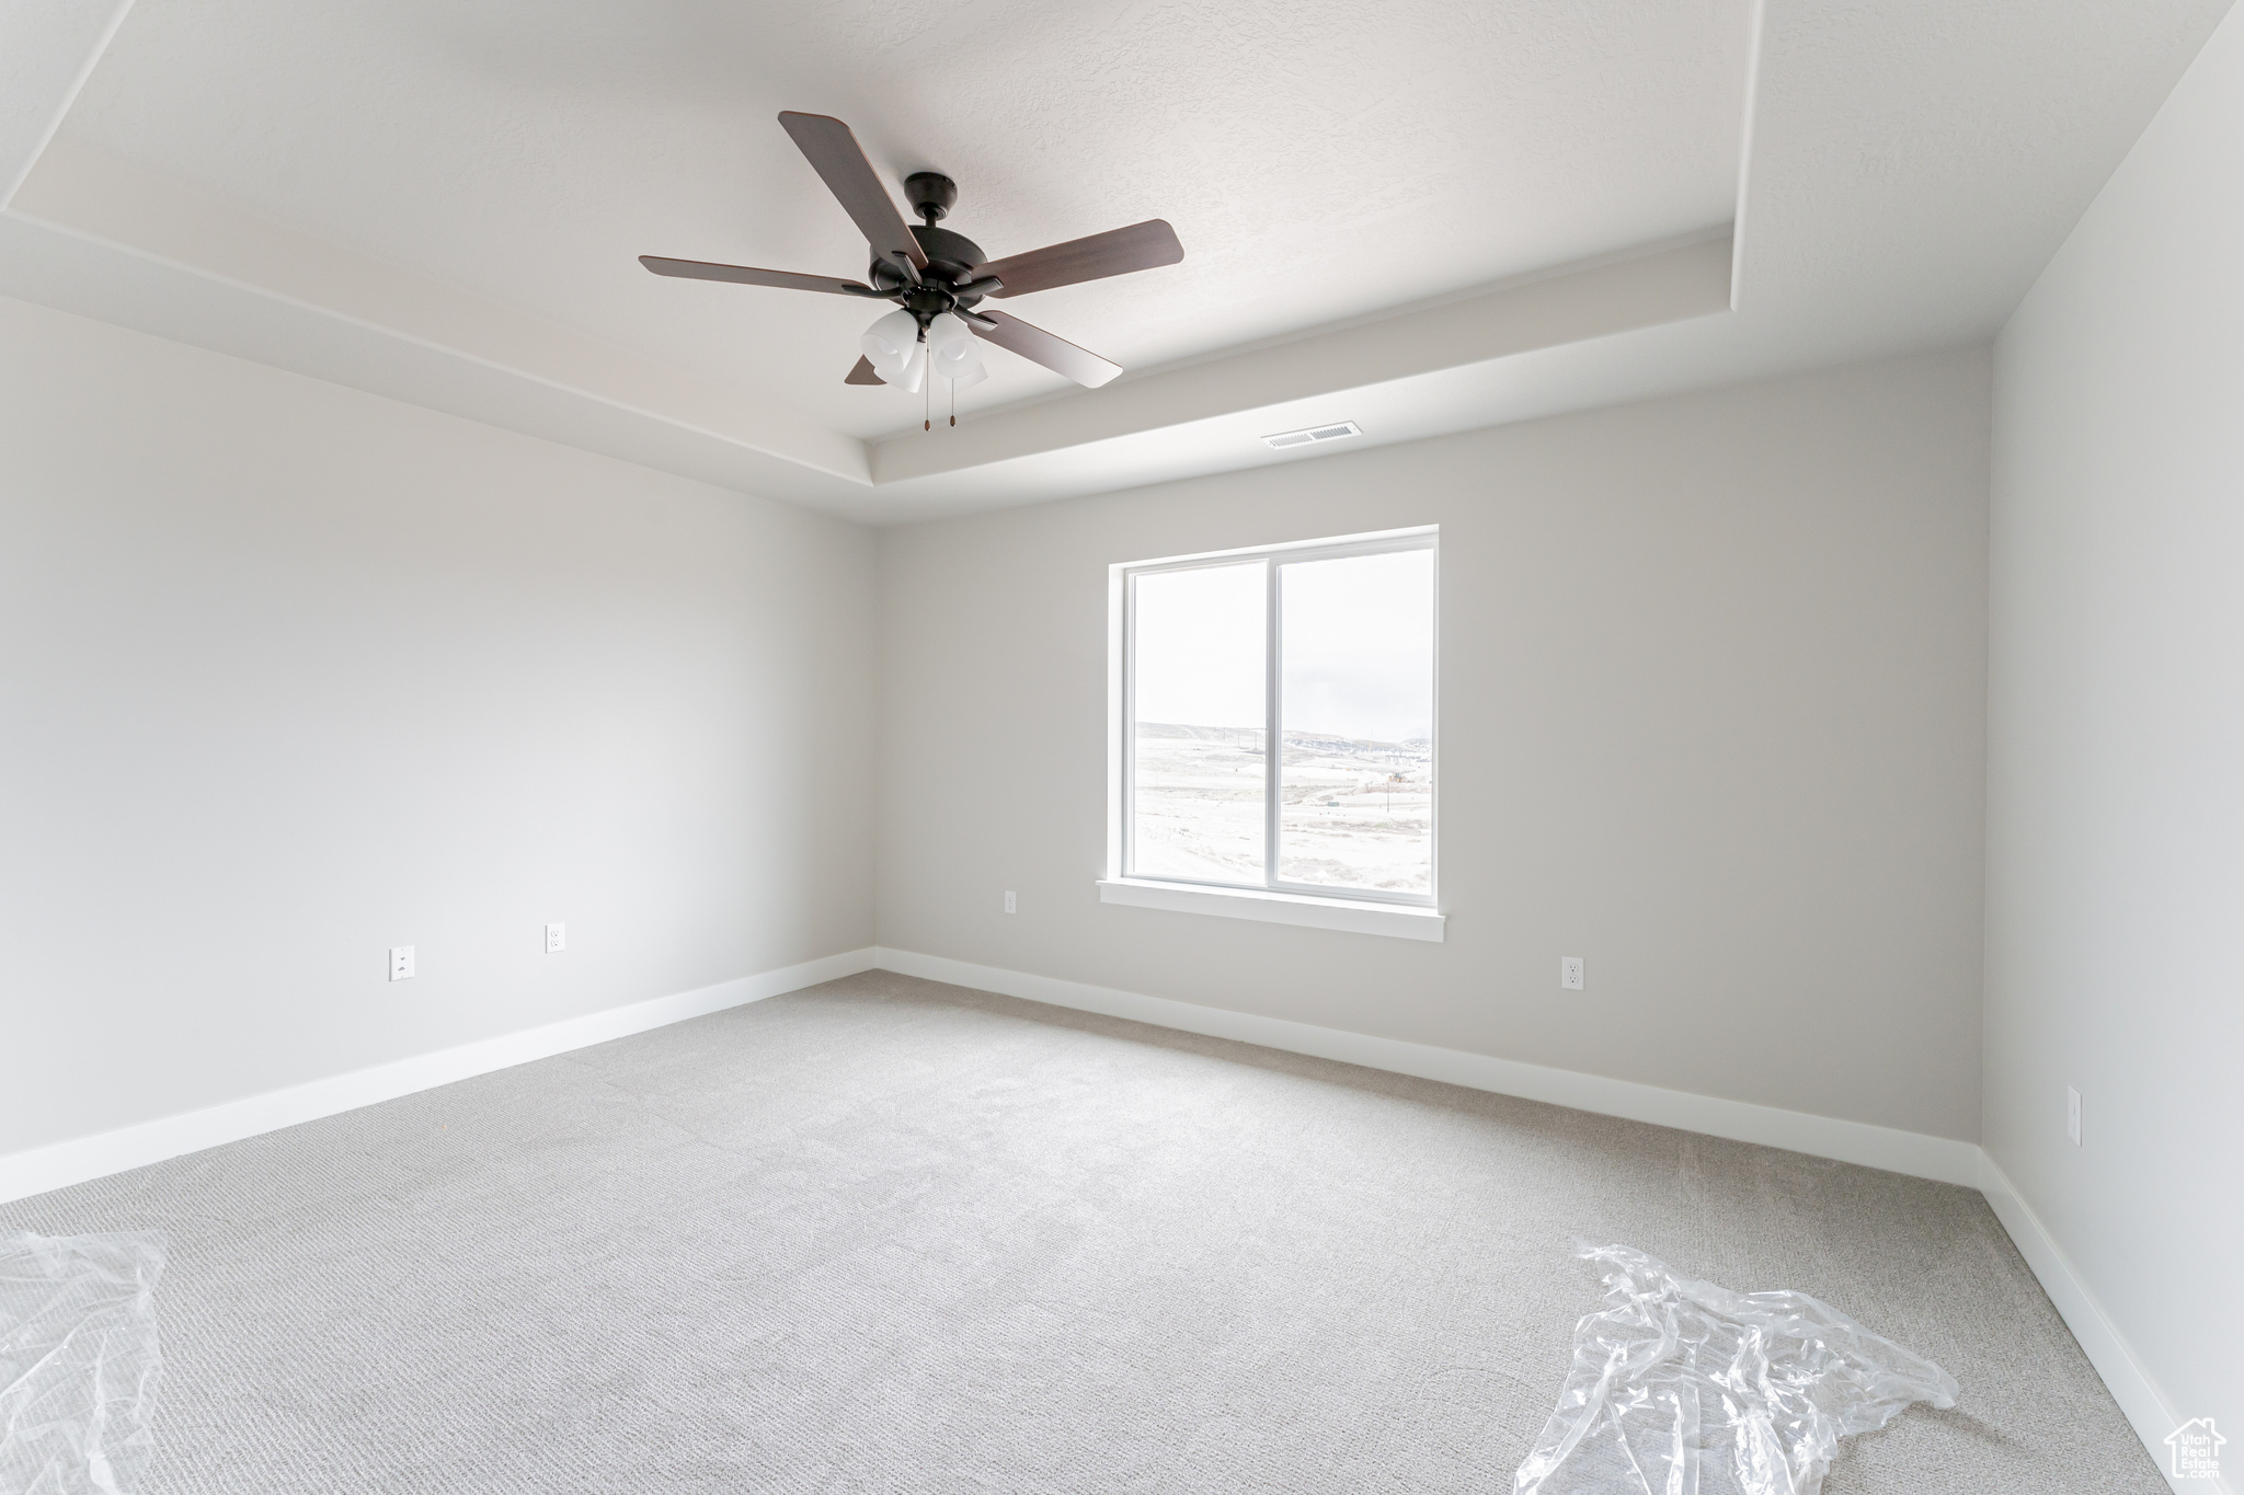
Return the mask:
[[[148,1163],[162,1163],[184,1152],[202,1152],[220,1143],[258,1136],[260,1132],[278,1132],[280,1127],[319,1121],[321,1116],[375,1105],[377,1101],[395,1101],[397,1096],[451,1085],[453,1080],[467,1080],[494,1069],[512,1069],[534,1058],[552,1058],[554,1053],[608,1042],[610,1038],[628,1038],[631,1033],[684,1022],[687,1018],[702,1018],[727,1006],[741,1006],[743,1002],[761,1002],[783,991],[799,991],[871,971],[873,964],[871,948],[844,950],[842,955],[826,955],[781,971],[743,975],[698,991],[651,997],[631,1006],[610,1006],[601,1013],[586,1013],[583,1018],[568,1018],[539,1029],[523,1029],[521,1033],[500,1033],[498,1038],[482,1038],[456,1049],[438,1049],[435,1053],[417,1053],[323,1080],[305,1080],[303,1085],[289,1085],[263,1096],[224,1101],[200,1112],[182,1112],[180,1116],[141,1121],[114,1132],[13,1152],[0,1157],[0,1204],[43,1195],[49,1188],[101,1179],[128,1168],[146,1168]]]

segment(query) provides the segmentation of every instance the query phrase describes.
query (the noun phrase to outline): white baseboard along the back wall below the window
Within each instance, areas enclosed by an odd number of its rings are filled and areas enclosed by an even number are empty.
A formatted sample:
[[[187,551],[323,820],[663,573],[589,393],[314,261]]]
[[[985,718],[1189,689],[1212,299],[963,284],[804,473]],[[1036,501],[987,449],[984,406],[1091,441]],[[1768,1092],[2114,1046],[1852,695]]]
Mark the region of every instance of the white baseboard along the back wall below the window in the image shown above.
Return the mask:
[[[1750,1101],[1721,1101],[1717,1096],[1694,1096],[1636,1080],[1611,1080],[1573,1069],[1551,1069],[1548,1065],[1526,1065],[1488,1053],[1465,1053],[1463,1049],[1438,1049],[1414,1044],[1400,1038],[1371,1038],[1369,1033],[1346,1033],[1342,1029],[1319,1029],[1308,1022],[1286,1018],[1261,1018],[1234,1013],[1221,1006],[1198,1006],[1169,997],[1147,997],[1135,991],[1113,986],[1086,986],[1084,982],[1061,982],[1026,971],[1003,971],[999,966],[974,966],[942,955],[920,955],[916,950],[875,950],[882,971],[918,975],[929,982],[951,986],[978,986],[1008,997],[1073,1006],[1109,1018],[1133,1018],[1165,1029],[1205,1033],[1210,1038],[1236,1038],[1239,1042],[1288,1053],[1310,1053],[1333,1058],[1367,1069],[1389,1069],[1411,1074],[1423,1080],[1447,1080],[1468,1089],[1488,1089],[1499,1096],[1521,1096],[1526,1101],[1548,1101],[1578,1112],[1600,1112],[1629,1121],[1649,1121],[1683,1132],[1703,1132],[1764,1148],[1809,1152],[1860,1163],[1887,1172],[1905,1172],[1916,1179],[1939,1179],[1941,1183],[1979,1186],[1977,1143],[1952,1136],[1925,1136],[1878,1127],[1867,1121],[1838,1121],[1833,1116],[1811,1116],[1786,1112],[1775,1105],[1753,1105]]]

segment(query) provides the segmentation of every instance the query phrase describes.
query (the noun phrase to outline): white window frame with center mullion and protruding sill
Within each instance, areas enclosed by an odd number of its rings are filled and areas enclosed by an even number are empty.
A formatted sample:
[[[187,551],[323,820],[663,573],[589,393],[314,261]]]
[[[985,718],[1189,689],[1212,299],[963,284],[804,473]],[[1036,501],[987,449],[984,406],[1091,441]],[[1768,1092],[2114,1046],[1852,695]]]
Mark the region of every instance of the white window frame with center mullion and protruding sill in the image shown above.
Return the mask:
[[[1391,551],[1425,549],[1434,554],[1434,742],[1429,760],[1434,764],[1434,816],[1432,816],[1432,890],[1425,894],[1396,894],[1371,888],[1328,888],[1319,883],[1288,883],[1277,876],[1279,814],[1284,809],[1284,576],[1286,565],[1302,560],[1337,560],[1344,556],[1382,556]],[[1135,702],[1133,697],[1133,632],[1135,632],[1135,578],[1158,572],[1192,572],[1216,565],[1243,565],[1261,560],[1266,567],[1263,603],[1263,881],[1257,883],[1205,883],[1178,876],[1135,876],[1131,867],[1133,832],[1133,753],[1135,753]],[[1335,536],[1328,540],[1299,540],[1290,545],[1252,545],[1198,556],[1165,556],[1160,560],[1126,560],[1106,572],[1106,876],[1100,879],[1100,901],[1129,903],[1135,908],[1165,908],[1176,912],[1218,914],[1230,919],[1261,919],[1266,923],[1302,923],[1313,928],[1337,928],[1362,935],[1400,935],[1405,939],[1441,939],[1445,919],[1441,903],[1441,531],[1434,524],[1418,529],[1382,529],[1360,536]]]

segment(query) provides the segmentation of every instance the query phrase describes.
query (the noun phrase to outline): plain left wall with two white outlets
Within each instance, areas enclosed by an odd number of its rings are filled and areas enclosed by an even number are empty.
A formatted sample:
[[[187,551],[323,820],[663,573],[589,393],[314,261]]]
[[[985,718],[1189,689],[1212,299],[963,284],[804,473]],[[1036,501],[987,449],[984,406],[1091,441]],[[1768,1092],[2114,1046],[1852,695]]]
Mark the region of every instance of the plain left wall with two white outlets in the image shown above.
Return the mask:
[[[873,563],[0,300],[0,1154],[871,944]]]

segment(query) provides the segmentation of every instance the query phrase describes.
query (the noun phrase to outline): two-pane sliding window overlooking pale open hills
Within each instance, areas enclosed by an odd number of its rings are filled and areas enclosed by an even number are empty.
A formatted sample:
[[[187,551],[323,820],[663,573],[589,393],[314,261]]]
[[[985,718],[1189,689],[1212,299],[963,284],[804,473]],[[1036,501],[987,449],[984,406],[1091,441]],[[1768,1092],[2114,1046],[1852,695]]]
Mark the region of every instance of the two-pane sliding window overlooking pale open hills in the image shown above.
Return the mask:
[[[1115,567],[1111,879],[1432,908],[1434,538]]]

